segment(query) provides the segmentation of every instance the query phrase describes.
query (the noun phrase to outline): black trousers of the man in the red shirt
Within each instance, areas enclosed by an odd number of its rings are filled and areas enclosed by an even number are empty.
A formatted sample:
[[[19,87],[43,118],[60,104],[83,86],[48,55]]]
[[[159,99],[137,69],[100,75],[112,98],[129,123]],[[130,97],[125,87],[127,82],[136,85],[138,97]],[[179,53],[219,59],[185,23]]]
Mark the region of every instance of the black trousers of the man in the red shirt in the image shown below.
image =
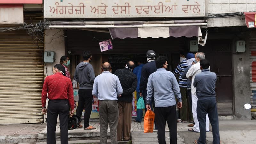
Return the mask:
[[[56,144],[57,117],[60,119],[60,142],[68,144],[68,100],[49,100],[47,109],[47,144]]]

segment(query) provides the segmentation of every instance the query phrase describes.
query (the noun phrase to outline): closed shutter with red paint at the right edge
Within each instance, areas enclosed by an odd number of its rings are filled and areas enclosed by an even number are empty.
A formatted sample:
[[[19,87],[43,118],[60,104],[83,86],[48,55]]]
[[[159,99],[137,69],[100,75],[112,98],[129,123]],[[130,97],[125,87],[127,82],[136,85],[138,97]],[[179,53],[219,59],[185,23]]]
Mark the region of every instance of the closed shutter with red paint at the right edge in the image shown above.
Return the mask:
[[[249,37],[250,47],[250,96],[251,96],[251,115],[256,115],[256,35]]]

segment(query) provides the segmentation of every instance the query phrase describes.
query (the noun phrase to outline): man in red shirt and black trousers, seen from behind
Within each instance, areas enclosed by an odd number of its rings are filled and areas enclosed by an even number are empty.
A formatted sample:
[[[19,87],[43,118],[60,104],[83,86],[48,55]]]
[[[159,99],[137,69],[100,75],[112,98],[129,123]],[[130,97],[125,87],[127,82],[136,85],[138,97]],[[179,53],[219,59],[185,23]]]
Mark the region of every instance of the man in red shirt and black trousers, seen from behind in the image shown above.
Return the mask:
[[[47,144],[55,144],[57,117],[60,119],[60,141],[68,144],[68,113],[74,114],[73,87],[70,78],[63,76],[65,68],[61,64],[53,67],[53,75],[44,80],[42,90],[42,113],[47,113]],[[46,97],[48,93],[48,109]]]

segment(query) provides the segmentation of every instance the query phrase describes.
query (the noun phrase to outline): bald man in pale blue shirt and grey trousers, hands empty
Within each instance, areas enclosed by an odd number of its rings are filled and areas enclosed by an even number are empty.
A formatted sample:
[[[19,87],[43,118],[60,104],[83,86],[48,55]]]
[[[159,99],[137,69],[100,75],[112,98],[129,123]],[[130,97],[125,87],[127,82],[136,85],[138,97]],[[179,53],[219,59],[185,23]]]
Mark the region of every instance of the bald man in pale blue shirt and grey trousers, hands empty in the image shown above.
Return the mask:
[[[107,143],[109,122],[111,144],[117,144],[117,96],[121,96],[123,89],[118,77],[111,73],[110,63],[103,63],[101,68],[102,74],[95,78],[92,89],[92,95],[99,100],[100,143]]]

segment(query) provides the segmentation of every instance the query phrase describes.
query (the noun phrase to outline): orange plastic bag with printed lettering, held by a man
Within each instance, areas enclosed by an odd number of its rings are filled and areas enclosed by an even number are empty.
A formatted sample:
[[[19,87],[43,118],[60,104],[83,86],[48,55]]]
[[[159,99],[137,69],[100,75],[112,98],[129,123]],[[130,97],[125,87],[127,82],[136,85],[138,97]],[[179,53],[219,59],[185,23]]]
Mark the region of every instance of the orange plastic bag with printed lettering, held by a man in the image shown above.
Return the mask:
[[[152,110],[147,110],[144,116],[144,133],[153,132],[155,113]]]

